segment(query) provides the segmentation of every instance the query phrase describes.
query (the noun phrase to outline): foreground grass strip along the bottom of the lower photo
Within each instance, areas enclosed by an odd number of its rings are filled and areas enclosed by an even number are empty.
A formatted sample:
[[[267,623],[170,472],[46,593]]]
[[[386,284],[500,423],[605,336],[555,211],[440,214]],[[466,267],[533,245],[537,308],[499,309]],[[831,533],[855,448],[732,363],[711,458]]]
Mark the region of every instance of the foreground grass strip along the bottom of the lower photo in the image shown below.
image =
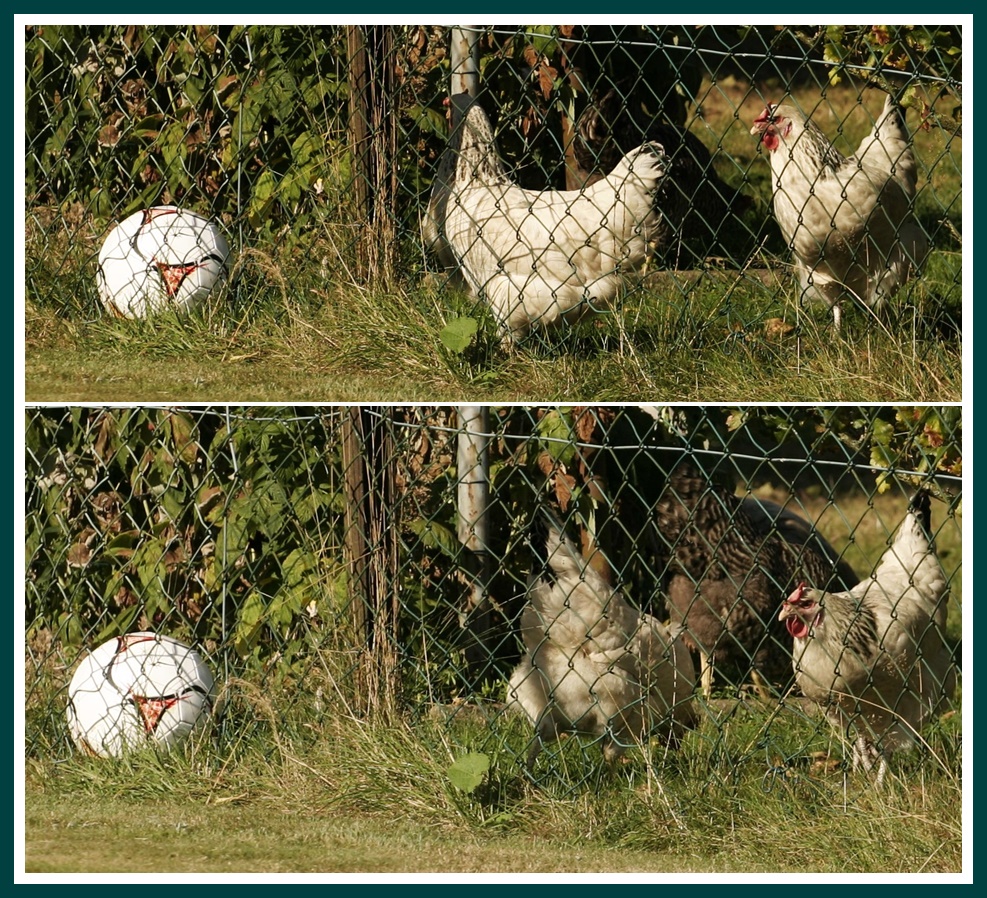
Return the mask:
[[[291,701],[287,696],[273,700]],[[527,725],[361,719],[343,702],[304,725],[188,744],[169,756],[28,762],[29,873],[957,873],[959,738],[881,790],[802,745],[825,746],[797,708],[710,710],[676,757],[596,746],[519,758]],[[718,719],[714,717],[718,715]],[[233,726],[227,722],[227,730]],[[294,726],[294,728],[293,728]],[[462,791],[449,767],[483,751]],[[837,749],[838,756],[838,749]],[[574,785],[575,784],[575,785]]]

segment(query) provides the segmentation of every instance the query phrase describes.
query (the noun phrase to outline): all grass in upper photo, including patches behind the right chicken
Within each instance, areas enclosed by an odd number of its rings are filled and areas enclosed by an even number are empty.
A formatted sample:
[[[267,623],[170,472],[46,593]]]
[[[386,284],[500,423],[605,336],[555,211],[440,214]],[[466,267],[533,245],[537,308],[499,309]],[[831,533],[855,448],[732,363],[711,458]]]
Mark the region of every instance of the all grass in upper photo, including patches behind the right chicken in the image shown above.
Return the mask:
[[[960,149],[916,132],[918,214],[937,246],[921,278],[880,317],[800,306],[770,213],[766,161],[745,124],[770,86],[708,86],[700,136],[720,135],[718,170],[755,197],[731,239],[738,264],[655,271],[616,312],[548,341],[501,349],[490,315],[404,258],[401,276],[354,273],[352,229],[328,221],[294,246],[241,249],[230,290],[190,316],[104,317],[92,272],[95,237],[73,242],[58,219],[29,228],[25,326],[28,402],[952,402],[962,398]],[[870,126],[845,88],[816,116],[844,150]],[[773,96],[777,99],[777,96]],[[807,109],[819,91],[804,91]],[[871,106],[875,108],[868,112]],[[913,114],[914,115],[914,114]],[[81,232],[80,232],[81,233]],[[303,242],[304,241],[304,242]],[[408,246],[416,243],[408,235]],[[410,251],[410,250],[408,250]],[[420,250],[419,250],[420,252]],[[469,317],[465,348],[443,329]],[[453,348],[450,348],[452,346]]]

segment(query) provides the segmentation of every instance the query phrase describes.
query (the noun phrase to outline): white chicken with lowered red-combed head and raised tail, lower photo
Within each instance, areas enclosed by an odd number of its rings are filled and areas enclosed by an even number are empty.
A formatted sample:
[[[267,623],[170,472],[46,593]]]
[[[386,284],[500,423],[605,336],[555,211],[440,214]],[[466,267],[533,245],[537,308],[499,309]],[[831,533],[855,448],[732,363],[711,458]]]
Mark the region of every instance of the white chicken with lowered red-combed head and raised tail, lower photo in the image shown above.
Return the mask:
[[[887,756],[915,743],[955,687],[948,584],[929,527],[920,491],[870,578],[846,592],[802,583],[778,615],[794,639],[796,682],[841,734],[855,732],[853,766],[876,762],[878,785]]]

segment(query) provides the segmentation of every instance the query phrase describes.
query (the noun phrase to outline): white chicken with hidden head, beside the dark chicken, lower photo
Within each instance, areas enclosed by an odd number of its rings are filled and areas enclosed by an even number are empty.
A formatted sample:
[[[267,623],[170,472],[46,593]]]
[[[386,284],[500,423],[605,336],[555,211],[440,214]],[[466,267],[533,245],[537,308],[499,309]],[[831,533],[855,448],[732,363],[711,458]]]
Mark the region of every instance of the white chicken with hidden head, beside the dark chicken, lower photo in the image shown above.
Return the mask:
[[[613,590],[545,515],[547,567],[529,579],[525,652],[508,685],[535,727],[529,769],[566,732],[602,738],[608,762],[651,733],[677,747],[698,722],[688,649]]]

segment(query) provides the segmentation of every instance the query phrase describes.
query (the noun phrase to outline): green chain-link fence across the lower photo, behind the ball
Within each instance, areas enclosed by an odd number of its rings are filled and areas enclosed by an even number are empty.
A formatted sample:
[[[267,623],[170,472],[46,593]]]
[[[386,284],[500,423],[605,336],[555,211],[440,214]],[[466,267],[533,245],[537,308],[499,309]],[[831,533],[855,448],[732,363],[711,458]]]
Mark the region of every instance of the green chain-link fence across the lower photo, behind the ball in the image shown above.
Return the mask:
[[[537,526],[546,509],[588,559],[581,579],[602,578],[613,608],[684,626],[696,671],[682,699],[695,724],[684,775],[697,790],[721,775],[717,759],[766,762],[781,777],[838,763],[821,711],[793,686],[778,611],[800,578],[834,589],[868,578],[919,486],[933,496],[944,629],[959,658],[956,408],[25,415],[29,757],[71,752],[66,687],[85,652],[154,630],[195,645],[215,672],[224,751],[335,709],[466,728],[477,750],[523,765],[541,742],[508,681],[525,648],[529,576],[554,579]],[[739,624],[710,636],[724,589]],[[951,732],[949,717],[933,731]],[[958,745],[943,738],[940,757]],[[546,746],[532,775],[582,787],[599,741]]]

